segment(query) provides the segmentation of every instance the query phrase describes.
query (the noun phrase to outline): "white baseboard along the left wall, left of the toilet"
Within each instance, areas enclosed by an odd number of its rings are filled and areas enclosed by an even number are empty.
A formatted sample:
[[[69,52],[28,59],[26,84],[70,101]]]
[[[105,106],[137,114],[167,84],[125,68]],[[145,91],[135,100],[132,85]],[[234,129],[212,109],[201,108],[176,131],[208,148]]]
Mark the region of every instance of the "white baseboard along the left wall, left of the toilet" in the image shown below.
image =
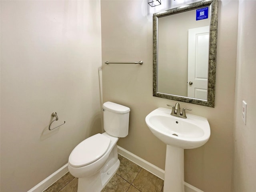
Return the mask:
[[[54,172],[53,174],[48,176],[46,179],[44,179],[42,182],[38,183],[36,186],[30,189],[28,192],[42,192],[46,190],[49,186],[51,186],[54,182],[56,182],[58,179],[64,176],[64,174],[66,174],[67,172],[68,172],[68,164],[58,169],[56,172]]]

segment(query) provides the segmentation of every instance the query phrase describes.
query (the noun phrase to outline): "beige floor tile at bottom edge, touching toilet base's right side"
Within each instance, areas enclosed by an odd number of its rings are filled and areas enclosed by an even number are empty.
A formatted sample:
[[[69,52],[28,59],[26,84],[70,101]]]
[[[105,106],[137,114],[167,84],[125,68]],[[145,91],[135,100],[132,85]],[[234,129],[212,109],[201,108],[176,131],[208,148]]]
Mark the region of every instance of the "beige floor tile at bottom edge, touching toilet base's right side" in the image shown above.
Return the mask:
[[[103,188],[102,192],[126,192],[130,184],[122,179],[117,174],[114,174],[112,179],[108,182],[108,184]]]

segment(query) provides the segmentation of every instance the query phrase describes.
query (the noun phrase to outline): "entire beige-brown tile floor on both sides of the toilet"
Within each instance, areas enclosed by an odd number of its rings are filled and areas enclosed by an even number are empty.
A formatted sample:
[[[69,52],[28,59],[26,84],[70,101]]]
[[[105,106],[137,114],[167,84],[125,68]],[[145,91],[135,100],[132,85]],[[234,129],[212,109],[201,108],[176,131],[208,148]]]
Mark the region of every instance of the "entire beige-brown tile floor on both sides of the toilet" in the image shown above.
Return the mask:
[[[102,192],[162,192],[164,180],[118,154],[120,167]],[[78,178],[69,172],[44,192],[76,192]]]

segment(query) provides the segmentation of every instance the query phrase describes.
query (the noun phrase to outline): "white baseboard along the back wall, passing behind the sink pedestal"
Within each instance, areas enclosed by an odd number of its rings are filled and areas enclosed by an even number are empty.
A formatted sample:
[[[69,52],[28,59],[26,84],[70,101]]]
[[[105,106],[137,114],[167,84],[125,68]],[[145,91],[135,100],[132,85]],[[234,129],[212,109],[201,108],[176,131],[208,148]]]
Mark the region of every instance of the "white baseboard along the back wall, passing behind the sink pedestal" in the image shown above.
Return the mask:
[[[124,148],[117,146],[117,151],[120,155],[124,156],[128,160],[134,162],[135,164],[141,166],[148,172],[154,174],[155,176],[161,178],[164,180],[164,170],[158,168],[157,166],[151,164],[150,162],[147,162],[146,160],[132,154],[131,152],[125,150]],[[185,185],[185,192],[203,192],[202,190],[184,182]]]

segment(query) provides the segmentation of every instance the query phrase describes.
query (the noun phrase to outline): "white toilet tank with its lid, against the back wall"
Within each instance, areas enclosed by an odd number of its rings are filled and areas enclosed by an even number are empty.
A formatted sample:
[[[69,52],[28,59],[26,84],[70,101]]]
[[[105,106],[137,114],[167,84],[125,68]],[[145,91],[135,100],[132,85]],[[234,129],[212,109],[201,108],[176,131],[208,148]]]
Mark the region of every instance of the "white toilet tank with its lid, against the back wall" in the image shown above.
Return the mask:
[[[126,137],[129,128],[130,108],[112,103],[103,104],[104,130],[115,137]]]

